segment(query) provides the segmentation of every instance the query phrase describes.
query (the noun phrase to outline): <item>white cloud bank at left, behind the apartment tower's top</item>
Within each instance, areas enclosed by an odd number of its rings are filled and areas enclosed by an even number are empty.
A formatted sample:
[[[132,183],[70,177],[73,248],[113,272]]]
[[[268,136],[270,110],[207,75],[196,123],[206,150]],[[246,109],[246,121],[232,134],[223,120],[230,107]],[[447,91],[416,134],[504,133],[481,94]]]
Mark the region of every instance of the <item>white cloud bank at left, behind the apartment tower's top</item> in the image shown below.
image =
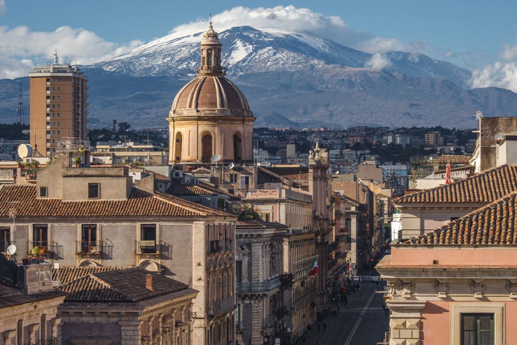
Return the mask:
[[[26,75],[34,65],[46,64],[54,49],[71,62],[77,59],[78,64],[89,64],[127,52],[142,43],[134,40],[119,45],[105,41],[94,32],[69,26],[58,27],[53,32],[32,32],[27,26],[12,29],[0,26],[0,78]]]

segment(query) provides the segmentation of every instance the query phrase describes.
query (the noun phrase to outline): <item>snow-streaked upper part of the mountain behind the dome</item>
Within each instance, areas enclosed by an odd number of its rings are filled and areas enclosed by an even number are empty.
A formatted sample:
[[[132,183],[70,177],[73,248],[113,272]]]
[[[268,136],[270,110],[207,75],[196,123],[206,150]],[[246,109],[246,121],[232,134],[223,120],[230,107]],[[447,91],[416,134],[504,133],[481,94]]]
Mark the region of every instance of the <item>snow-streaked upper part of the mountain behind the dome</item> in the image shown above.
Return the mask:
[[[126,54],[92,67],[123,72],[131,76],[184,76],[193,74],[200,63],[199,43],[203,33],[173,33]],[[256,29],[237,26],[219,33],[223,43],[223,65],[229,76],[239,74],[297,71],[336,67],[375,69],[372,54],[361,52],[306,32]],[[390,51],[376,58],[383,69],[407,76],[446,79],[467,87],[468,70],[423,54]],[[334,66],[334,67],[332,67]]]

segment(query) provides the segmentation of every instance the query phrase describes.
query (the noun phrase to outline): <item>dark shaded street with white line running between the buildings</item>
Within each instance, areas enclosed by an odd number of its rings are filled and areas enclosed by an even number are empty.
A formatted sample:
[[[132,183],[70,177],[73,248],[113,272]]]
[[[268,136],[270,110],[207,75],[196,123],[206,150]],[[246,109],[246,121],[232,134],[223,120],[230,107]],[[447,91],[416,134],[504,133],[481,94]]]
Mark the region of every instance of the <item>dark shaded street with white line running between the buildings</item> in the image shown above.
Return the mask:
[[[355,282],[358,282],[355,280]],[[339,303],[340,311],[337,316],[329,315],[325,321],[327,329],[320,332],[317,326],[312,327],[306,345],[375,345],[384,340],[388,332],[389,317],[383,309],[383,291],[375,283],[359,282],[360,290],[348,296],[348,303]],[[375,291],[379,293],[375,293]],[[330,310],[336,310],[336,304],[330,305]],[[323,322],[321,323],[323,324]]]

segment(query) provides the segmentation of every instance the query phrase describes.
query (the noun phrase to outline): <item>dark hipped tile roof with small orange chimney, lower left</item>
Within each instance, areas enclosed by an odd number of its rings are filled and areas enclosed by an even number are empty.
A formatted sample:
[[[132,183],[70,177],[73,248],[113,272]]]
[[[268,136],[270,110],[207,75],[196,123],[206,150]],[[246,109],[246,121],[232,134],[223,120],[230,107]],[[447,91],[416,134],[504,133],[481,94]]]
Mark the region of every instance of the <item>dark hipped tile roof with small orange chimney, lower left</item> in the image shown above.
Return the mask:
[[[153,276],[153,291],[146,289],[146,276]],[[59,290],[67,293],[65,302],[139,302],[188,289],[177,280],[132,267],[91,273],[64,284]]]

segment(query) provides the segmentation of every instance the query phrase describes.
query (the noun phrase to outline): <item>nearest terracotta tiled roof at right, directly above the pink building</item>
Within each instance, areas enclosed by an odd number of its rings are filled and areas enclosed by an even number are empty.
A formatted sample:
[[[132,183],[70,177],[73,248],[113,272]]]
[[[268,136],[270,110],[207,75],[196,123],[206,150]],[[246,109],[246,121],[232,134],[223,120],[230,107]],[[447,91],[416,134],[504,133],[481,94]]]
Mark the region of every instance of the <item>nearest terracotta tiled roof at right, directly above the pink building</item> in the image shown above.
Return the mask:
[[[517,192],[403,244],[517,245]]]

